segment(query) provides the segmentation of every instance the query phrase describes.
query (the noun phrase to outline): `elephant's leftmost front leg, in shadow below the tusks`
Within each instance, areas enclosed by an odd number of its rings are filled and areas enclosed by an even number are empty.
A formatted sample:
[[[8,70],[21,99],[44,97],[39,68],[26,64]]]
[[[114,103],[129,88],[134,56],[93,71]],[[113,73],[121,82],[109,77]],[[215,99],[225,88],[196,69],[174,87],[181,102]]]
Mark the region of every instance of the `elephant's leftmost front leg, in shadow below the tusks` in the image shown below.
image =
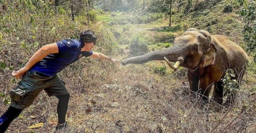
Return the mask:
[[[188,70],[188,82],[189,82],[190,89],[194,92],[197,92],[198,91],[198,85],[199,85],[199,77],[194,75],[189,70]]]

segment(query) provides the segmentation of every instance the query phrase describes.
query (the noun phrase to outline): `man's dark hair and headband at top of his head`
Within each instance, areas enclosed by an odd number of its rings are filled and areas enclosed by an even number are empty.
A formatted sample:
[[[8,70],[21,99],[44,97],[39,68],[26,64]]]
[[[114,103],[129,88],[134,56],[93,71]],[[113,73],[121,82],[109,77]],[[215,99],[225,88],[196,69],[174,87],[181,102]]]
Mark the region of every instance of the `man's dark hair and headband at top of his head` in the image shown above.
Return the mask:
[[[86,30],[80,33],[79,38],[85,43],[93,42],[96,44],[97,36],[92,30]]]

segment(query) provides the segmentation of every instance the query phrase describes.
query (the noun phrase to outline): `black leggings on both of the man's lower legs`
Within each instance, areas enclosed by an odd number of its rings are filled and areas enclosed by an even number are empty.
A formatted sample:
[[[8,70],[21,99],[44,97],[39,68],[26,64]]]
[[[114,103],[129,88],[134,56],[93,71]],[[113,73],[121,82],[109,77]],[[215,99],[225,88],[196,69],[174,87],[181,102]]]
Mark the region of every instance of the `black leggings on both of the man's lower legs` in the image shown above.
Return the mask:
[[[65,117],[68,109],[68,100],[70,98],[70,94],[58,95],[58,123],[62,124],[65,122]],[[18,109],[15,107],[9,107],[6,112],[0,117],[0,133],[4,133],[11,122],[21,114],[23,109]]]

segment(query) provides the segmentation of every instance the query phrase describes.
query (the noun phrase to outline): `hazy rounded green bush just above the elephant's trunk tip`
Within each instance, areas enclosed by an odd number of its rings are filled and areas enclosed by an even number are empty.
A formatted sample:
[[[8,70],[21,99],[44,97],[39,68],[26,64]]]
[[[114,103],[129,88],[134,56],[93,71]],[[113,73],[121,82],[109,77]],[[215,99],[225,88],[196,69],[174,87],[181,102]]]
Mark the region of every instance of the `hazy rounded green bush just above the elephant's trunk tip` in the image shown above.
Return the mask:
[[[146,54],[148,51],[149,48],[147,47],[145,41],[143,41],[138,35],[132,39],[129,46],[129,54],[131,56]]]

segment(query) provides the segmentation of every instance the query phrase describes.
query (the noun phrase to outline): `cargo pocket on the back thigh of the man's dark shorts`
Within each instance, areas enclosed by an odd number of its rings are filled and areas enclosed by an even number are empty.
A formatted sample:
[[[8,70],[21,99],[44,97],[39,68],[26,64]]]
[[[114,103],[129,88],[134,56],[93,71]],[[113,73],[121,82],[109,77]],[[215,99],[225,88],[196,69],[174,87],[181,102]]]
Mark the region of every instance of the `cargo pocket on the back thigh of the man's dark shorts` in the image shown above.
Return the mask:
[[[17,87],[10,91],[10,97],[13,101],[20,101],[22,97],[26,96],[29,90],[33,88],[33,84],[21,82]]]

